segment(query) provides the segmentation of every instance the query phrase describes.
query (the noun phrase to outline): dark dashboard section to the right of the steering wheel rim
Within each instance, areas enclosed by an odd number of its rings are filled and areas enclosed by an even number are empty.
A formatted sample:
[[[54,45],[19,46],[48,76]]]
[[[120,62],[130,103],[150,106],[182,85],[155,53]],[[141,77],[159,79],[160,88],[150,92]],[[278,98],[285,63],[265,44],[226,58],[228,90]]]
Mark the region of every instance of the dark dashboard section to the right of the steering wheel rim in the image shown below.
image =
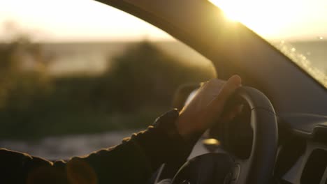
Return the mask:
[[[279,183],[327,183],[327,117],[280,116],[275,176]]]

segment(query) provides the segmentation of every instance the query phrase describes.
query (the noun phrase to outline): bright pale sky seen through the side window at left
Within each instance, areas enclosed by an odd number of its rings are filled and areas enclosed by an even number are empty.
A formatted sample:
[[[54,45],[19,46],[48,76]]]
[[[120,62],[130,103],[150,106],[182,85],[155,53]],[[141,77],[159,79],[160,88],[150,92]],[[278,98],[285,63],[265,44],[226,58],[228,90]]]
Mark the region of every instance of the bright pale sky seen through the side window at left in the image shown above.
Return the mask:
[[[50,42],[170,39],[143,20],[92,0],[0,0],[0,39],[17,32]]]

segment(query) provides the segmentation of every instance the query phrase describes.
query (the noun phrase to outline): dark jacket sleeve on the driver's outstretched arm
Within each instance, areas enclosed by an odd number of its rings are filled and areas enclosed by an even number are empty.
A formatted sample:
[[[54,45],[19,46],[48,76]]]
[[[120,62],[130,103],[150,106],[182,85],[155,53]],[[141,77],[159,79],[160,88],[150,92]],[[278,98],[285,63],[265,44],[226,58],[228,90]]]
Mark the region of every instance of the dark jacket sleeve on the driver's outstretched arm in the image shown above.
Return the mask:
[[[192,145],[172,133],[174,127],[167,128],[175,125],[177,116],[176,110],[167,112],[157,118],[159,125],[122,144],[68,162],[0,149],[1,175],[8,183],[146,183],[162,163],[182,163],[191,152]]]

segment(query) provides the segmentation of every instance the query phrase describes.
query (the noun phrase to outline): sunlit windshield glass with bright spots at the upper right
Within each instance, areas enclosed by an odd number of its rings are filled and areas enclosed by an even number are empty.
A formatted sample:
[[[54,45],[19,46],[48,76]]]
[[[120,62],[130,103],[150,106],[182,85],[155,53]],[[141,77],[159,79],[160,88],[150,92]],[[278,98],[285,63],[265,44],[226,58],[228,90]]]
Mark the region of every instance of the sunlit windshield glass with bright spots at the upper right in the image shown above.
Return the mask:
[[[326,0],[210,0],[327,88]]]

